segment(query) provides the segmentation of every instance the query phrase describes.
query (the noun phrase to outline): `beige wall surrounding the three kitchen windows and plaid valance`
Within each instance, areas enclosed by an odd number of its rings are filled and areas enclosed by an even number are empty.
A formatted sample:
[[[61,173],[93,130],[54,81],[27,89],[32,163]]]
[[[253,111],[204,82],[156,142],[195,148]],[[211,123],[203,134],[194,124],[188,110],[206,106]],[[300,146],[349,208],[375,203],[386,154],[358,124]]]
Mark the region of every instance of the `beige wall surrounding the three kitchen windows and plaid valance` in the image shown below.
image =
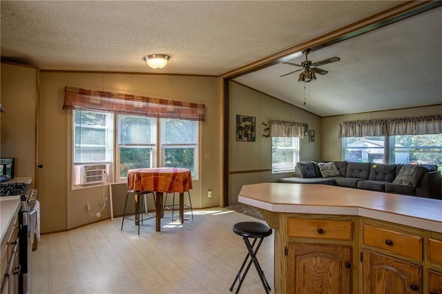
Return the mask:
[[[174,75],[131,75],[113,73],[41,72],[40,75],[40,162],[39,197],[41,199],[42,232],[62,231],[97,221],[86,211],[99,210],[99,202],[109,197],[108,185],[73,190],[72,173],[72,116],[61,109],[64,87],[122,92],[132,95],[191,101],[206,106],[206,120],[200,132],[200,179],[191,190],[194,208],[221,205],[222,92],[220,78]],[[206,158],[206,153],[210,156]],[[207,197],[207,190],[213,197]],[[114,215],[122,215],[126,187],[113,186]],[[152,197],[148,199],[153,208]],[[109,200],[102,218],[110,217]]]

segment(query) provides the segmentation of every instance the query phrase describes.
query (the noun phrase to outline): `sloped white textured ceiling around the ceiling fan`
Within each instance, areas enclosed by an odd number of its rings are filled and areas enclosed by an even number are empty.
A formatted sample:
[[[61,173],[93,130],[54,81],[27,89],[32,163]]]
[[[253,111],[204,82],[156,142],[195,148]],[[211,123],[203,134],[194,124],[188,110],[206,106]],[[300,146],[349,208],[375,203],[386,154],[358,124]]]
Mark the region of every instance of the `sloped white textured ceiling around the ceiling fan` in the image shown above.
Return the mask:
[[[313,62],[334,56],[340,61],[319,66],[329,73],[308,84],[300,72],[280,77],[298,69],[283,63],[235,81],[321,117],[442,104],[442,7],[308,55]]]

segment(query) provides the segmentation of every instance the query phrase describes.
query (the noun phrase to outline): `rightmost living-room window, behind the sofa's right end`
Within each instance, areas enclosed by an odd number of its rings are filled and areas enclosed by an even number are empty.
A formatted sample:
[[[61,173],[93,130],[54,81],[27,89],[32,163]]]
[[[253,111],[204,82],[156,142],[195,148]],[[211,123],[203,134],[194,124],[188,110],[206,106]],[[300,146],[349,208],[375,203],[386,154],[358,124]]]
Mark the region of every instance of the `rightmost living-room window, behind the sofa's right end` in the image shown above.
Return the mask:
[[[442,134],[397,135],[390,137],[391,161],[395,164],[442,166]]]

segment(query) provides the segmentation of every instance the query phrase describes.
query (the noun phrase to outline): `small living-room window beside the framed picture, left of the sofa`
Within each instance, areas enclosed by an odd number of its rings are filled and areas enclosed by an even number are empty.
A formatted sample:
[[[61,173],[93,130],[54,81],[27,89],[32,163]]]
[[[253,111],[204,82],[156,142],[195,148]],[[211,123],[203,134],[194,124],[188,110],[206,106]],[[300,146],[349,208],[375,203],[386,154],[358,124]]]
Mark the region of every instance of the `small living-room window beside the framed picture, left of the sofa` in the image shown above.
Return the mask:
[[[271,171],[272,173],[295,170],[299,161],[299,138],[271,138]]]

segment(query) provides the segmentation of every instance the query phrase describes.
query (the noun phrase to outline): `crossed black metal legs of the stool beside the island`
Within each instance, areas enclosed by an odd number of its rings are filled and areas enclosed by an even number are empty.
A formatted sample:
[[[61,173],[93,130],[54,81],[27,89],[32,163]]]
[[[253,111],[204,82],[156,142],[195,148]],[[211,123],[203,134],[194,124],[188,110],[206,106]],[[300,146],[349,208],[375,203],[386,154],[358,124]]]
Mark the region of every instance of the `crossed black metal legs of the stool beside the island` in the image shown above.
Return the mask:
[[[250,266],[251,266],[251,264],[253,262],[253,264],[255,265],[256,271],[258,272],[258,275],[260,276],[260,279],[261,279],[261,282],[262,282],[262,286],[264,286],[264,288],[265,288],[265,293],[269,293],[271,288],[270,288],[269,283],[267,282],[267,280],[265,278],[264,271],[262,271],[260,263],[258,262],[258,259],[256,258],[256,254],[258,253],[258,250],[259,250],[259,248],[261,246],[261,243],[262,243],[262,240],[264,239],[264,237],[259,238],[260,241],[258,242],[258,245],[256,246],[256,248],[254,250],[253,250],[253,247],[255,246],[256,241],[258,240],[258,238],[253,238],[252,244],[250,244],[249,238],[242,237],[242,239],[244,240],[244,243],[247,246],[248,253],[247,253],[246,258],[244,259],[244,262],[242,262],[242,266],[240,268],[240,271],[238,271],[238,274],[236,275],[236,278],[233,281],[232,286],[230,287],[230,291],[233,291],[233,287],[235,286],[236,281],[240,280],[240,284],[238,284],[238,288],[236,289],[236,292],[235,292],[236,294],[238,294],[238,292],[240,291],[242,282],[244,282],[244,279],[245,279],[245,277],[247,275],[247,272],[249,271],[249,268],[250,268]],[[242,278],[241,278],[242,270],[244,269],[244,266],[246,265],[247,260],[249,259],[249,257],[251,259],[249,261],[249,264],[247,264],[247,268],[244,271],[244,275],[242,275]]]

